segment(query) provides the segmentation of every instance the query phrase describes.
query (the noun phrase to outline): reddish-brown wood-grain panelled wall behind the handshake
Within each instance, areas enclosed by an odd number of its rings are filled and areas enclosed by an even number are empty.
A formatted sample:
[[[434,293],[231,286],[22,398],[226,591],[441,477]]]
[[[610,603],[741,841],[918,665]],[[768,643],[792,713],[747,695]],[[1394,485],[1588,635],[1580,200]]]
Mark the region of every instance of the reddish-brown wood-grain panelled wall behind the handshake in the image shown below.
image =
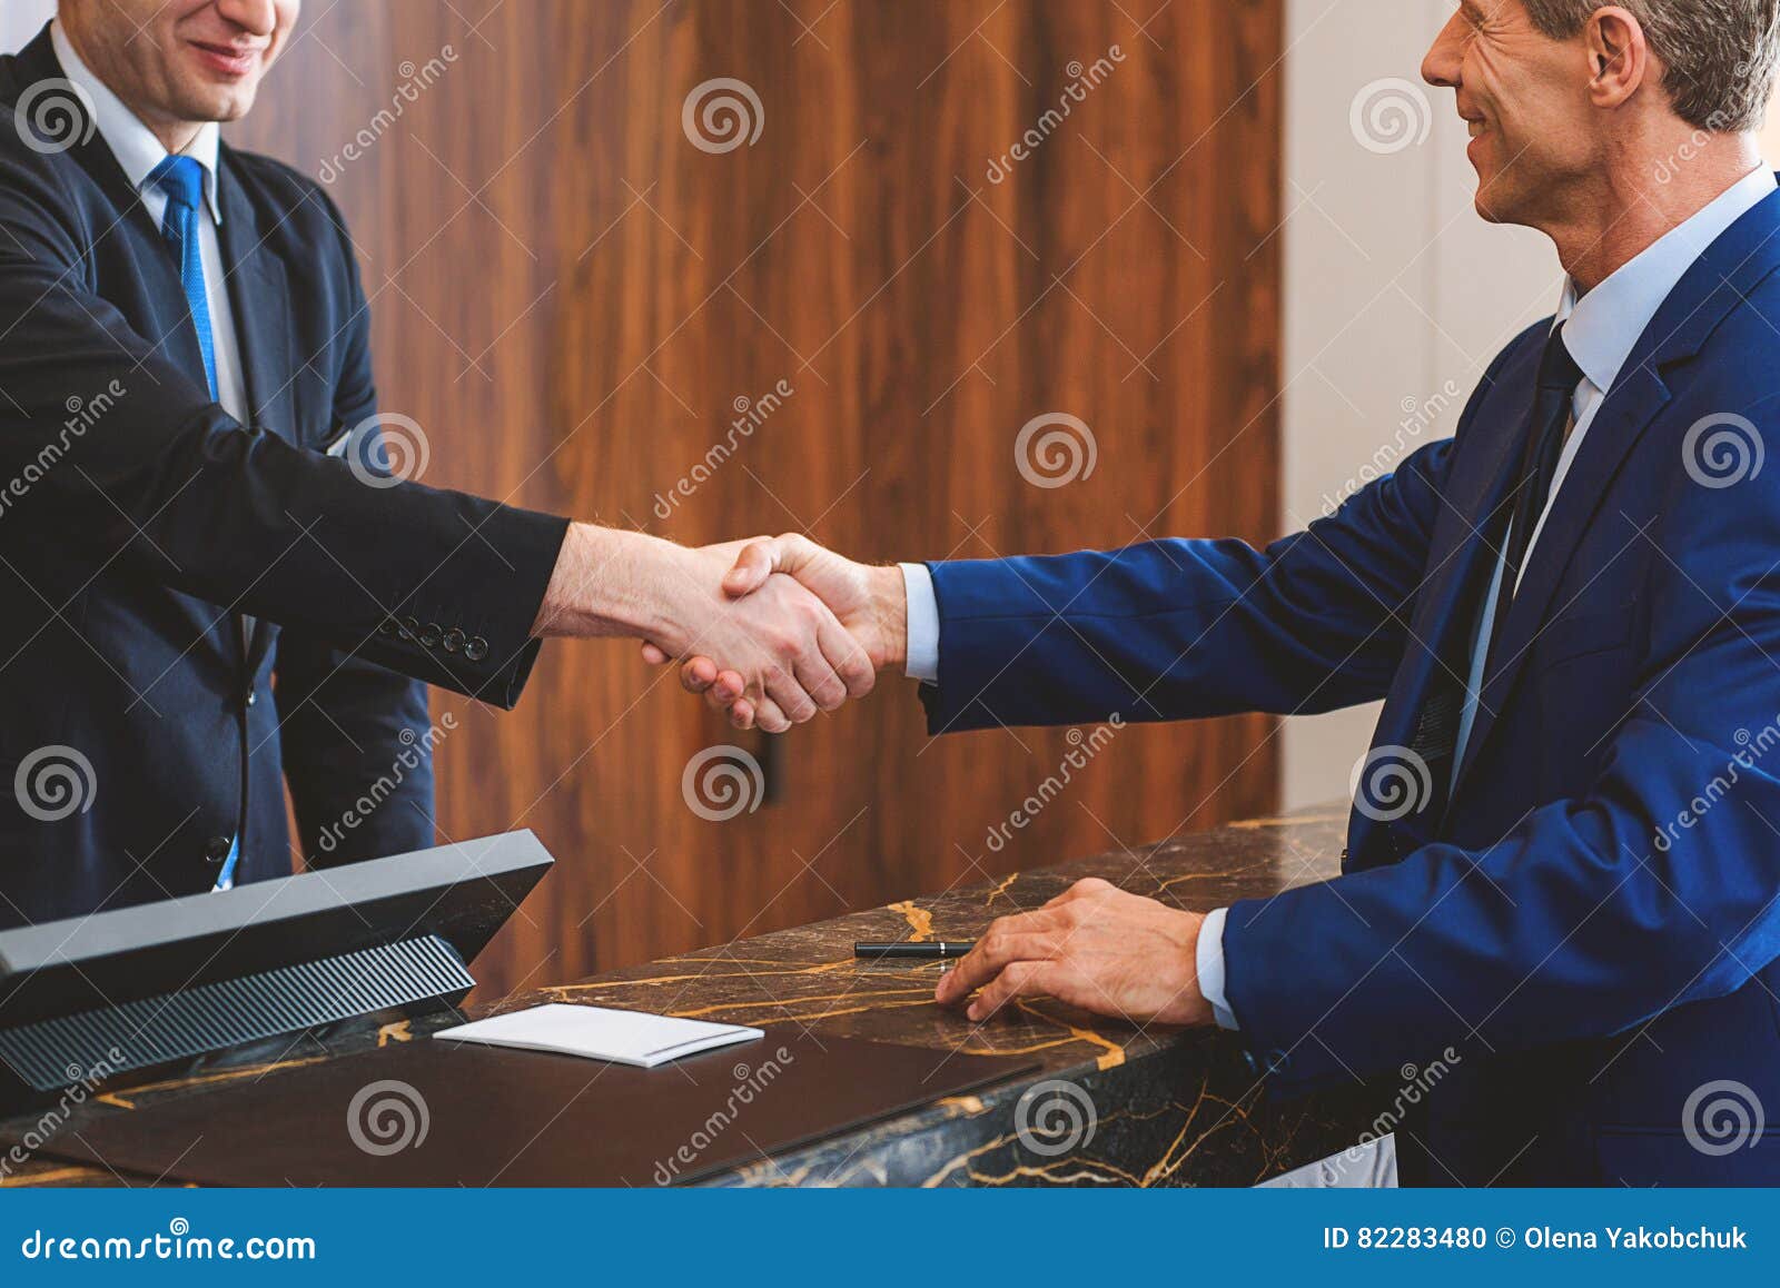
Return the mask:
[[[340,4],[304,18],[231,137],[331,180],[425,482],[685,543],[806,530],[872,560],[1264,541],[1280,0],[1152,9]],[[1047,123],[1096,59],[1109,75]],[[717,76],[760,100],[751,146],[682,128]],[[733,455],[657,500],[780,381]],[[1015,438],[1054,411],[1098,461],[1036,487]],[[783,740],[732,735],[625,644],[548,648],[516,713],[436,708],[459,717],[441,836],[532,827],[561,861],[482,959],[490,996],[1274,806],[1262,717],[1127,729],[991,850],[1075,744],[929,742],[897,676]],[[771,795],[707,822],[682,770],[732,740]]]

